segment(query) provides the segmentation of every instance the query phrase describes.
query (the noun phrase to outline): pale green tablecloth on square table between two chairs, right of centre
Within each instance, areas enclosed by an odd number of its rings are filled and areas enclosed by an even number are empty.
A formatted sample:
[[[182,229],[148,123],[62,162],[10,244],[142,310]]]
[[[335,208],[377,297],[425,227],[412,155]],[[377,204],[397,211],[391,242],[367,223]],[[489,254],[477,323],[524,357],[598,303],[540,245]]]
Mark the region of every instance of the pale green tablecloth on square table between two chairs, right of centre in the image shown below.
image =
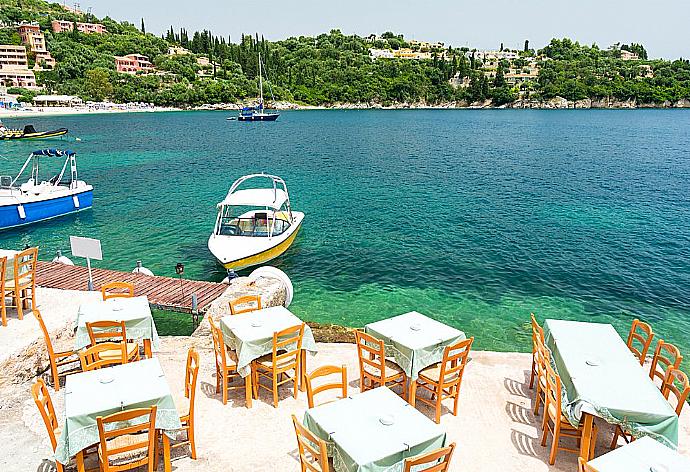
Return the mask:
[[[411,380],[419,371],[443,360],[446,346],[465,339],[465,333],[412,311],[364,327],[367,334],[386,344],[386,356],[393,356]]]

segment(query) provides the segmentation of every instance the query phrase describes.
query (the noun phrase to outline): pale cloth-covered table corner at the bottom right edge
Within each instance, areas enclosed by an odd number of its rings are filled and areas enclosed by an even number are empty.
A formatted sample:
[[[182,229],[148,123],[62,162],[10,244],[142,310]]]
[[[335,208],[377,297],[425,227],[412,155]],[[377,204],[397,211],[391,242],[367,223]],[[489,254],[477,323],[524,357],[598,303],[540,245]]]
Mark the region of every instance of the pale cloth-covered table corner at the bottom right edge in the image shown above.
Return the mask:
[[[651,467],[666,472],[687,472],[690,459],[652,438],[643,437],[597,457],[589,465],[599,472],[649,472]]]

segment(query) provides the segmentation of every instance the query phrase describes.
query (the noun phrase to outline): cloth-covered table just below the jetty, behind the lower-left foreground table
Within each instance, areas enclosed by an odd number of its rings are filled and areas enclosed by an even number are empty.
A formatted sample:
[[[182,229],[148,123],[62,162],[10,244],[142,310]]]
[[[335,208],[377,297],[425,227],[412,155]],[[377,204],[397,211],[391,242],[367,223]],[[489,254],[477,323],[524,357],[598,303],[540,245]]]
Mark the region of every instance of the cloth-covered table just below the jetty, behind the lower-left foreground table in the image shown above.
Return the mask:
[[[108,300],[84,303],[79,306],[75,321],[76,334],[74,337],[75,351],[91,344],[86,322],[94,321],[124,321],[127,339],[143,341],[146,357],[151,357],[152,351],[158,351],[160,338],[153,322],[148,298],[110,298]]]

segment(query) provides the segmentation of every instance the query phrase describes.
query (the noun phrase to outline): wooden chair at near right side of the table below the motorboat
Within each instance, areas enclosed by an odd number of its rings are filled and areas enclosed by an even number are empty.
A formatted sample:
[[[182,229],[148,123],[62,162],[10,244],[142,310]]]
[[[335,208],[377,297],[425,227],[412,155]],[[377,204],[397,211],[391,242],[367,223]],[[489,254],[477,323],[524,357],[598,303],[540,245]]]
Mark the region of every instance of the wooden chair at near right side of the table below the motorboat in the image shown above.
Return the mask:
[[[278,387],[280,385],[294,382],[294,397],[297,398],[299,378],[302,372],[300,361],[303,336],[304,323],[273,333],[273,352],[252,362],[254,395],[259,397],[260,388],[271,390],[275,408],[278,408]],[[290,371],[294,371],[294,376],[288,375]],[[270,380],[271,386],[262,385],[261,378]]]

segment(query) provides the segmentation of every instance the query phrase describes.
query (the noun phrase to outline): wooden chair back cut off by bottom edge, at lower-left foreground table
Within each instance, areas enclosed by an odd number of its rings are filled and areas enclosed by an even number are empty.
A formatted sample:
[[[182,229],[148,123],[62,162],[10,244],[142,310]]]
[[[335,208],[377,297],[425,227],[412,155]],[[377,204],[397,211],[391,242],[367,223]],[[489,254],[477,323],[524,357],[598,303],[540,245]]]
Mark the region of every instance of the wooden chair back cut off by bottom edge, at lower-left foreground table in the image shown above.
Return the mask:
[[[100,437],[98,457],[103,472],[139,467],[147,467],[148,472],[156,470],[156,411],[157,407],[152,406],[96,418]],[[142,422],[146,417],[148,420]]]

